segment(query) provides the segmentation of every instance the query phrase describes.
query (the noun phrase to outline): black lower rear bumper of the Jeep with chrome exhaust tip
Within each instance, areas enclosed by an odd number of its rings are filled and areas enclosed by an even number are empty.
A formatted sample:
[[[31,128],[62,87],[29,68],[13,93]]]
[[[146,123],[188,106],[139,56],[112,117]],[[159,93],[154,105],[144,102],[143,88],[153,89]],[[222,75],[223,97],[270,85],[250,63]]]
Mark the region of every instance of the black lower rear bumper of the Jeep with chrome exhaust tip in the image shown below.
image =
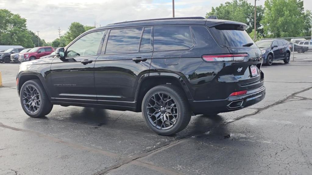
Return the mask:
[[[194,114],[209,114],[229,112],[242,109],[247,106],[254,105],[266,96],[266,88],[264,86],[252,90],[251,93],[241,96],[228,97],[223,100],[207,100],[193,101],[190,100],[190,106]]]

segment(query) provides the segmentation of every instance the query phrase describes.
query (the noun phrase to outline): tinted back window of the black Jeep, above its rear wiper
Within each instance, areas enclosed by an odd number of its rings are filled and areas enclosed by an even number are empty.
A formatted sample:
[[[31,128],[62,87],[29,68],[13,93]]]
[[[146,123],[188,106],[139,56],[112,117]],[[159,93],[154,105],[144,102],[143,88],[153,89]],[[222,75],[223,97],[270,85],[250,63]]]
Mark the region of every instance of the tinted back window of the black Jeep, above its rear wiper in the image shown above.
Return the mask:
[[[247,43],[253,43],[250,47],[256,47],[254,41],[241,25],[221,24],[210,28],[217,42],[226,47],[243,47]]]

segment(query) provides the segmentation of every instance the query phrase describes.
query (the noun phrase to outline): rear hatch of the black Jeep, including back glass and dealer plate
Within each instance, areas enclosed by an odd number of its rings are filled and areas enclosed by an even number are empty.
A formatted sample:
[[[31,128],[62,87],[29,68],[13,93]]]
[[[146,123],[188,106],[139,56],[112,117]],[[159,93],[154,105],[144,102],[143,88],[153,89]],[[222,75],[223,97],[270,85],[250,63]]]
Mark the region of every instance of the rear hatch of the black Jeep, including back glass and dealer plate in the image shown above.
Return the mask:
[[[210,32],[221,47],[229,50],[233,61],[225,61],[224,67],[217,73],[217,81],[232,83],[227,86],[224,97],[232,92],[248,90],[254,92],[263,87],[263,73],[261,72],[261,50],[245,31],[243,23],[217,23],[209,25]],[[248,93],[247,92],[247,93]]]

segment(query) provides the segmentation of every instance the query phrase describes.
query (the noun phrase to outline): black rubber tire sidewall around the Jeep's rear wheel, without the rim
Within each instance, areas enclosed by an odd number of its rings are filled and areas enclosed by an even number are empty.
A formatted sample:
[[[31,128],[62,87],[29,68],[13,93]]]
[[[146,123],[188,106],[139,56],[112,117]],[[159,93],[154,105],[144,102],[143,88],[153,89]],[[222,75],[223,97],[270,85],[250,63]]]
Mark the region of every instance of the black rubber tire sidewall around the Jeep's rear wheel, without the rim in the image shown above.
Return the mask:
[[[170,95],[173,100],[177,103],[178,106],[178,120],[177,122],[168,130],[159,130],[155,126],[153,126],[148,119],[148,116],[146,114],[146,103],[149,100],[149,98],[156,92],[163,92],[167,93]],[[190,117],[191,115],[189,114],[188,116],[188,111],[186,109],[183,109],[182,105],[182,100],[183,98],[179,97],[178,94],[176,94],[172,89],[165,87],[165,86],[156,86],[150,89],[144,96],[143,101],[142,101],[142,114],[144,121],[146,125],[149,126],[150,129],[152,129],[154,132],[160,134],[160,135],[172,135],[168,133],[176,133],[179,132],[179,129],[181,125],[183,125],[183,120],[186,120],[185,118]],[[183,128],[184,129],[184,128]]]

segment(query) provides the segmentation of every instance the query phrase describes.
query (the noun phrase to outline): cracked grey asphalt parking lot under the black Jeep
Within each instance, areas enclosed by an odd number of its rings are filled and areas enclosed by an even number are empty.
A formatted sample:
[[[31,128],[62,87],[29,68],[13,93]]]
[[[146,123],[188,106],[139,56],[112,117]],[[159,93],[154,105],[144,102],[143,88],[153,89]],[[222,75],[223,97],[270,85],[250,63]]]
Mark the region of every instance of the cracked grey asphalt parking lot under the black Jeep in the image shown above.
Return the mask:
[[[312,52],[263,66],[266,98],[240,111],[193,116],[173,137],[141,113],[54,106],[22,110],[18,64],[0,64],[0,174],[311,174]]]

